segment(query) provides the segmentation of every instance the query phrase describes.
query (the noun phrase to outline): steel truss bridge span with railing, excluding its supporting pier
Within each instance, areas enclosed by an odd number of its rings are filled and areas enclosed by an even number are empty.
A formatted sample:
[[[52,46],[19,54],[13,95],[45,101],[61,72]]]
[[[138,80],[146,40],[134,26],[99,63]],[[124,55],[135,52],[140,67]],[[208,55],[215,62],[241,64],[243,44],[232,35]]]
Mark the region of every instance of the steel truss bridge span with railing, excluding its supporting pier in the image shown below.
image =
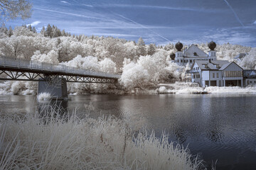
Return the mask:
[[[1,74],[5,74],[5,77]],[[120,78],[117,74],[90,72],[64,64],[0,57],[0,80],[48,81],[56,77],[65,78],[67,82],[101,84],[116,84]]]

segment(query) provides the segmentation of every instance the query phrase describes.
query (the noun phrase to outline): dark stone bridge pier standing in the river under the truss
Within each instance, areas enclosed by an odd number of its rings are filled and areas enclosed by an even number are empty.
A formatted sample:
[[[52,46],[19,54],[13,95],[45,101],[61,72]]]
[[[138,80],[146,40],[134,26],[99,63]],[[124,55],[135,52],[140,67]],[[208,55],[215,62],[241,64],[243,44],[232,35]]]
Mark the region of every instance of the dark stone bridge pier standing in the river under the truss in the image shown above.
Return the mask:
[[[38,81],[38,94],[49,93],[53,98],[63,100],[68,98],[67,80],[61,77],[55,77]]]

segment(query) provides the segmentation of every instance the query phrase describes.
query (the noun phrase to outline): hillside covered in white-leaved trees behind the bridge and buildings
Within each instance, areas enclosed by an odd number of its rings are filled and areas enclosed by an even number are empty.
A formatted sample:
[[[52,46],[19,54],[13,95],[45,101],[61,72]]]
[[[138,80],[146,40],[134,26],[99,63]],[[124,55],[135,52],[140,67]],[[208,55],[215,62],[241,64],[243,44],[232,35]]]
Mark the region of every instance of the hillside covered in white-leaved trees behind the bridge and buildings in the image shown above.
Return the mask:
[[[50,25],[43,27],[40,33],[31,26],[16,27],[14,30],[11,27],[1,28],[0,38],[1,56],[122,74],[120,84],[125,90],[135,87],[145,89],[160,82],[180,79],[185,70],[189,69],[171,62],[170,55],[175,52],[174,44],[145,45],[142,38],[135,42],[94,35],[71,35]],[[198,44],[198,47],[208,51],[207,42]],[[216,50],[218,60],[230,61],[241,52],[248,52],[238,64],[246,69],[256,69],[255,48],[223,44],[217,45]],[[31,82],[4,82],[0,88],[13,94],[36,93],[36,84]],[[109,88],[108,85],[75,84],[69,86],[69,92],[97,93]]]

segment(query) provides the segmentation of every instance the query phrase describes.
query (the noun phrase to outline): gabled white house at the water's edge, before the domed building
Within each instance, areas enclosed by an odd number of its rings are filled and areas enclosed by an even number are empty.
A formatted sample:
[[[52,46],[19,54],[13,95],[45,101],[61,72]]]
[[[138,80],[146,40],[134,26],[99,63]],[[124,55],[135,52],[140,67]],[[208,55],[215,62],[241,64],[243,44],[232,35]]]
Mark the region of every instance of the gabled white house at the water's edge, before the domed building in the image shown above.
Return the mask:
[[[191,66],[191,81],[206,86],[243,86],[243,69],[225,60],[196,60]]]

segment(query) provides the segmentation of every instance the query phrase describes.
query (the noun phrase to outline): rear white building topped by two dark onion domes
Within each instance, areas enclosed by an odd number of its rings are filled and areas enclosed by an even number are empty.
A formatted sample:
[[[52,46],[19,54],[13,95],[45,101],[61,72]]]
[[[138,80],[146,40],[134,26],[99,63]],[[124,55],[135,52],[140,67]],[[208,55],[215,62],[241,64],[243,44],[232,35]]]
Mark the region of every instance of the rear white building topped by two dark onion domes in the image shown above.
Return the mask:
[[[177,52],[175,53],[175,60],[178,65],[185,66],[186,64],[192,65],[196,60],[216,60],[216,51],[214,50],[216,47],[215,42],[210,42],[208,47],[210,51],[208,55],[206,52],[203,52],[197,45],[190,45],[188,48],[185,48],[183,52],[181,49],[183,48],[183,44],[181,42],[176,43],[175,45]]]

